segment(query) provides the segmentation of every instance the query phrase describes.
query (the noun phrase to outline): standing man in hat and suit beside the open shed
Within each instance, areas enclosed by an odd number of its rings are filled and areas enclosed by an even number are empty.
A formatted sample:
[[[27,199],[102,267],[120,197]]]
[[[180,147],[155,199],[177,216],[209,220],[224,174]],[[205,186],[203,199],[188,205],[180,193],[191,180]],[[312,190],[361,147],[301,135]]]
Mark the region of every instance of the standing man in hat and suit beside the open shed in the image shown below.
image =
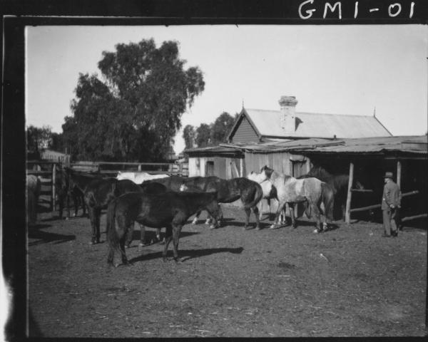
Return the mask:
[[[392,172],[384,175],[384,192],[382,196],[382,217],[384,234],[382,237],[397,237],[398,210],[401,205],[401,192],[399,187],[392,180]]]

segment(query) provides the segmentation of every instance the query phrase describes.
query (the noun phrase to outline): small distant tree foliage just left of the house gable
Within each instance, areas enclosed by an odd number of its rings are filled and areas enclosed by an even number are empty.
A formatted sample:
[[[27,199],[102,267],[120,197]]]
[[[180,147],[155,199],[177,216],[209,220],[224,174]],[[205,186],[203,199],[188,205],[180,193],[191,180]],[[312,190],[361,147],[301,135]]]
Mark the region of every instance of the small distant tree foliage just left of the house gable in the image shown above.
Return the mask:
[[[183,130],[185,148],[215,146],[222,142],[227,142],[228,134],[238,118],[227,112],[221,113],[213,123],[202,123],[198,128],[186,125]]]

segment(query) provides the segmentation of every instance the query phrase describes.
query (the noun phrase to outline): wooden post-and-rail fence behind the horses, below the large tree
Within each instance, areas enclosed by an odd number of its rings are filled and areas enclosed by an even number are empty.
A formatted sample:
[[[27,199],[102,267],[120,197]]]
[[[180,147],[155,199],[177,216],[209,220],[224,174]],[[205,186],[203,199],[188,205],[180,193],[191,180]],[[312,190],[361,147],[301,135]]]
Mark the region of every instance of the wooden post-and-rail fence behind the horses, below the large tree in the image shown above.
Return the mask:
[[[63,167],[62,162],[51,160],[27,161],[26,174],[41,178],[41,196],[39,203],[49,204],[51,211],[56,210],[56,173]],[[151,175],[180,175],[188,176],[188,164],[174,164],[161,162],[74,162],[73,170],[86,172],[100,172],[102,175],[116,177],[118,171],[141,171]]]

